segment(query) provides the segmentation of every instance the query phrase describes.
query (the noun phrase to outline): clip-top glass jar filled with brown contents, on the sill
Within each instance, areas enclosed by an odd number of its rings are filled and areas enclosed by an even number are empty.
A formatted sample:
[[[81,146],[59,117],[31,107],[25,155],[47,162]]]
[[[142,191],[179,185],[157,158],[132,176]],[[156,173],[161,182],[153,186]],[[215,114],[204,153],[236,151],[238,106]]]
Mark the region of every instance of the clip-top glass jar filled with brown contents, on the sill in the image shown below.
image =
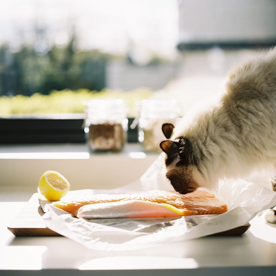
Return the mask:
[[[90,150],[120,151],[127,133],[127,108],[122,99],[91,99],[83,102],[85,133]]]

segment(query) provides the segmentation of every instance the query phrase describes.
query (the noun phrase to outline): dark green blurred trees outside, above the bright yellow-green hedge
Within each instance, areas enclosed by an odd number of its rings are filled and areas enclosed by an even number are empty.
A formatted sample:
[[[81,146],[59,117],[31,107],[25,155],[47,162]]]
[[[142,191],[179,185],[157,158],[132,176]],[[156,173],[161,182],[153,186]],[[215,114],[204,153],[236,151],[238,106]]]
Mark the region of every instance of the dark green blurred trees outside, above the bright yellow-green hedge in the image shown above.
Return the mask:
[[[75,51],[76,36],[65,47],[49,50],[22,45],[12,52],[0,46],[0,95],[49,94],[52,90],[80,89],[100,91],[105,87],[107,54],[97,50]]]

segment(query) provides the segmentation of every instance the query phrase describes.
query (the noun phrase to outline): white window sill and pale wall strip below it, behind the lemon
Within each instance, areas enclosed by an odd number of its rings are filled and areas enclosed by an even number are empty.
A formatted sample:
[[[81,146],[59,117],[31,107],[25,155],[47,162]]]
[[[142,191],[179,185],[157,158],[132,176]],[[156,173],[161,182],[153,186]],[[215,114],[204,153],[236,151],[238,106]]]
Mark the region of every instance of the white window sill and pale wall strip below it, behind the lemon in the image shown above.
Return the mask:
[[[86,144],[1,145],[0,201],[24,201],[46,170],[56,170],[77,189],[114,189],[141,177],[158,153],[127,143],[122,152],[90,153]]]

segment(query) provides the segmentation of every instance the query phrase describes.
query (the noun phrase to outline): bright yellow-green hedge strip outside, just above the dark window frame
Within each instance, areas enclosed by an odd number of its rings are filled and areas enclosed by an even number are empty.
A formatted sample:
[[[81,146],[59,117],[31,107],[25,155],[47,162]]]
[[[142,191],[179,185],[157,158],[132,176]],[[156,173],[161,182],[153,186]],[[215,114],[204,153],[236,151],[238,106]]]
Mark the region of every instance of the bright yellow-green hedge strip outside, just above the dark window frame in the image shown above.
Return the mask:
[[[7,114],[46,114],[46,113],[83,113],[83,101],[93,98],[121,98],[126,101],[130,111],[129,116],[135,116],[137,110],[135,101],[147,99],[153,91],[139,88],[133,91],[108,90],[100,92],[88,89],[72,91],[52,91],[49,95],[35,93],[32,96],[16,95],[0,97],[0,115]]]

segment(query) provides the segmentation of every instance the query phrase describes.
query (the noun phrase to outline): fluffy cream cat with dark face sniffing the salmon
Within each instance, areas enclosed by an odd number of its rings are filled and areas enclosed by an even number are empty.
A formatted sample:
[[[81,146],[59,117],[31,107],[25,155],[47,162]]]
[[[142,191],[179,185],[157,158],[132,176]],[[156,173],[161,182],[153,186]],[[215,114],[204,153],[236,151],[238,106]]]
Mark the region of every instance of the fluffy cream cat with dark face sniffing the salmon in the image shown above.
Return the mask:
[[[273,175],[276,47],[230,73],[216,104],[187,114],[176,126],[163,124],[162,131],[167,139],[160,143],[166,177],[179,193],[198,187],[212,190],[221,178],[242,178],[256,170]]]

